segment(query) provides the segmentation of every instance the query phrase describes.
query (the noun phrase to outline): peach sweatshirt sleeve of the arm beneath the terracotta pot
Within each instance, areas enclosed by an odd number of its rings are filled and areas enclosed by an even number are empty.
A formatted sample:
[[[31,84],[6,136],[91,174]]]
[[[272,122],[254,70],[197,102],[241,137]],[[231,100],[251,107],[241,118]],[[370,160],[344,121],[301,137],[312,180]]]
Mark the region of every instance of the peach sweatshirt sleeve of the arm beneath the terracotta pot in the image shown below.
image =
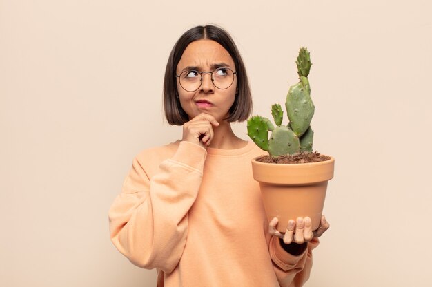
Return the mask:
[[[300,287],[309,279],[312,268],[312,250],[320,241],[313,238],[308,242],[308,248],[298,256],[284,251],[280,245],[279,237],[272,236],[269,245],[273,268],[281,287]]]

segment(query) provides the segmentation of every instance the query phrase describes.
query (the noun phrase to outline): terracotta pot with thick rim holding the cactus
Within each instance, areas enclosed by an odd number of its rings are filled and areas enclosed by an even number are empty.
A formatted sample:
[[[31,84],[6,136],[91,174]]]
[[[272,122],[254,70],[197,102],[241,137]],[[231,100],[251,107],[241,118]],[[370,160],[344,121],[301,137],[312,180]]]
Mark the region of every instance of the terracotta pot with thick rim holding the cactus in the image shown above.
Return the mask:
[[[320,226],[327,182],[333,178],[335,159],[304,164],[272,164],[252,160],[253,178],[259,182],[268,221],[277,217],[277,230],[286,231],[288,220],[311,217]]]

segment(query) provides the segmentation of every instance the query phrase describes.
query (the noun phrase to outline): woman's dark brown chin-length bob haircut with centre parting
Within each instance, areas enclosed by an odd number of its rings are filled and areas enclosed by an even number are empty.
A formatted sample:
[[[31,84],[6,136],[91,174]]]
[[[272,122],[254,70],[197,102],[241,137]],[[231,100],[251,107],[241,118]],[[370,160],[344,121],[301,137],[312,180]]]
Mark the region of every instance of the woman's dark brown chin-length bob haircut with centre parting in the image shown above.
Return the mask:
[[[188,114],[180,105],[177,98],[177,78],[175,77],[177,65],[186,47],[193,41],[209,39],[213,40],[230,54],[235,63],[237,72],[237,96],[230,107],[228,122],[247,120],[252,111],[251,89],[246,75],[246,68],[240,56],[237,46],[231,36],[224,29],[214,25],[197,26],[186,31],[175,43],[166,64],[164,78],[164,111],[165,117],[170,125],[183,125],[189,121]]]

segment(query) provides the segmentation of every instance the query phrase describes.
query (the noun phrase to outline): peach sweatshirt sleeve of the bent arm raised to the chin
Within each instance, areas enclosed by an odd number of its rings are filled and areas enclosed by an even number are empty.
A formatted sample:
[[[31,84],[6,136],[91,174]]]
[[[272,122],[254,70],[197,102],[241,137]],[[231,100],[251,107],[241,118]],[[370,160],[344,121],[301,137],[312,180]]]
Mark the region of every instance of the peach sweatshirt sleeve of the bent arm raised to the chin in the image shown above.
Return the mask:
[[[188,211],[202,181],[206,149],[180,142],[173,158],[149,178],[146,158],[134,159],[109,211],[110,237],[130,262],[170,273],[184,251]],[[148,163],[148,162],[146,162]]]

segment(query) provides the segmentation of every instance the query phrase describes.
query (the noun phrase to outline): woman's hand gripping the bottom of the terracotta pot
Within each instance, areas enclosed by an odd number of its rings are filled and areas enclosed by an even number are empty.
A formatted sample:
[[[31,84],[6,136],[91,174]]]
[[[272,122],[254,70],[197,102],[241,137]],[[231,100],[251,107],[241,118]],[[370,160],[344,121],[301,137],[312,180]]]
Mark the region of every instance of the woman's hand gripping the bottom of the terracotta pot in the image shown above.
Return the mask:
[[[312,222],[310,217],[297,217],[296,221],[289,220],[285,233],[277,231],[276,226],[278,222],[279,220],[277,217],[274,217],[268,224],[268,232],[271,235],[282,238],[285,244],[291,244],[291,242],[297,244],[309,242],[313,237],[320,237],[330,227],[330,224],[328,224],[324,215],[321,217],[320,226],[315,231],[312,231]]]

